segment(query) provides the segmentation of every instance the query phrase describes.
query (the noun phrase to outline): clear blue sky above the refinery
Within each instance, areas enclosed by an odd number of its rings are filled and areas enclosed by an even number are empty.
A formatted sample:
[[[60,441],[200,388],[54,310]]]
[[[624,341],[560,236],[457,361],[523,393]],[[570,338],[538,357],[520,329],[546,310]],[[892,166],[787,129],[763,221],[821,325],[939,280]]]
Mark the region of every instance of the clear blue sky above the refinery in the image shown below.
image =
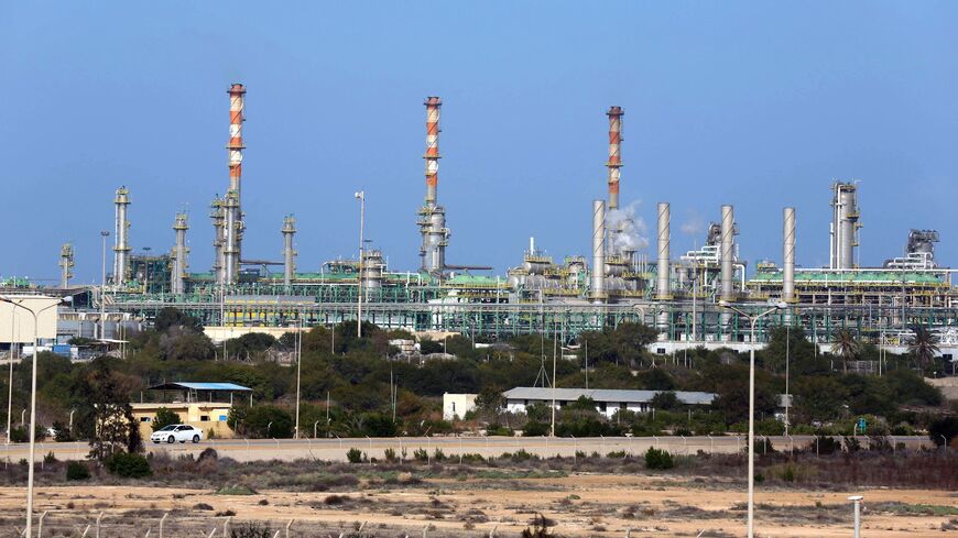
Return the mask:
[[[4,2],[0,8],[0,274],[99,279],[112,194],[133,199],[134,250],[168,250],[188,209],[192,271],[211,263],[208,205],[226,190],[231,83],[248,88],[244,256],[301,271],[367,235],[418,267],[423,98],[444,100],[447,259],[521,262],[529,237],[589,251],[606,195],[611,105],[625,109],[622,205],[673,255],[733,204],[741,255],[828,263],[829,186],[860,183],[860,259],[910,228],[958,265],[955,2]]]

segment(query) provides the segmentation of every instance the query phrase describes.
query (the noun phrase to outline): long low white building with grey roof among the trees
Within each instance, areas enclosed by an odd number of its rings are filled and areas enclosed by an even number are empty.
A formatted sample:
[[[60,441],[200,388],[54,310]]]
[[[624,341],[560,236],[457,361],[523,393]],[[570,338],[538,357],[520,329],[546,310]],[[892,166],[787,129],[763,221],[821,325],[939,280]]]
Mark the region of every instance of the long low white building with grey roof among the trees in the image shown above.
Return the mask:
[[[505,396],[505,409],[510,413],[525,413],[525,408],[534,404],[551,406],[553,397],[560,409],[585,396],[596,403],[596,410],[612,418],[616,411],[630,410],[649,413],[652,410],[652,398],[656,394],[668,391],[627,391],[609,388],[548,388],[520,386],[502,393]],[[553,393],[555,395],[553,396]],[[685,405],[711,405],[716,395],[712,393],[675,391],[675,396]]]

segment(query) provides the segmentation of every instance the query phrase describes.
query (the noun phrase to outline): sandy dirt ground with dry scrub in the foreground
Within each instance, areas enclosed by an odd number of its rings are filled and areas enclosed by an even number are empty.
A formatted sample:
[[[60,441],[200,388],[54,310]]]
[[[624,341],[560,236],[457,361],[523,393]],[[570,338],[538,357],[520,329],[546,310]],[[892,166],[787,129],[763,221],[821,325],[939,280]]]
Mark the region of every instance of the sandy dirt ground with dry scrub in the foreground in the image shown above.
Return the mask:
[[[947,536],[958,530],[958,494],[872,488],[854,492],[756,488],[756,536],[851,536],[850,494],[864,495],[863,537]],[[291,519],[290,536],[518,537],[536,514],[549,530],[570,537],[731,537],[744,535],[745,491],[740,482],[676,475],[570,474],[535,479],[477,475],[428,479],[400,488],[227,495],[208,490],[129,486],[44,486],[37,513],[47,512],[43,536],[77,536],[102,512],[100,537],[222,536],[226,516],[237,529],[265,521],[269,536]],[[24,491],[0,488],[0,536],[22,528]],[[946,531],[943,534],[943,531]]]

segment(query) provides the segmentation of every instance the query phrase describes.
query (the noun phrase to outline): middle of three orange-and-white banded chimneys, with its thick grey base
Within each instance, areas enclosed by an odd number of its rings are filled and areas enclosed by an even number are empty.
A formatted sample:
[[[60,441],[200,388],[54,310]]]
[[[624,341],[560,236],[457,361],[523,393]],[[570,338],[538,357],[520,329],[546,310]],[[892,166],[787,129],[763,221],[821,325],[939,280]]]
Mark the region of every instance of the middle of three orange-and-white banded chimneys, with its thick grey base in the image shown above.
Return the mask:
[[[436,187],[439,184],[439,107],[443,100],[428,97],[426,106],[426,200],[420,208],[420,233],[423,245],[420,256],[426,273],[442,274],[446,267],[446,246],[449,244],[449,230],[446,229],[446,210],[437,204]]]

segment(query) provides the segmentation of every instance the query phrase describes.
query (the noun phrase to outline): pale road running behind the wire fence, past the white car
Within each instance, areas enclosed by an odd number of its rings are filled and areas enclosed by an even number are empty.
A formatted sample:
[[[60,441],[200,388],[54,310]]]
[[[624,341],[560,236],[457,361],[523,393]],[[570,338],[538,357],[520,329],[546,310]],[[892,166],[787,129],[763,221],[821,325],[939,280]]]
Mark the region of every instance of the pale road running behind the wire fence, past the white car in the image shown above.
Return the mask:
[[[765,439],[759,437],[762,441]],[[775,450],[798,450],[813,441],[812,436],[770,436],[769,442]],[[862,449],[869,448],[869,439],[859,438]],[[890,438],[892,444],[904,443],[907,448],[934,447],[927,437],[896,436]],[[346,461],[346,452],[350,448],[359,449],[372,458],[382,459],[387,449],[393,449],[396,455],[405,450],[406,458],[413,458],[413,452],[422,449],[432,457],[437,449],[447,457],[466,453],[478,453],[482,457],[500,455],[503,452],[525,450],[541,457],[573,457],[576,452],[591,454],[598,452],[624,451],[640,454],[656,447],[676,454],[695,454],[696,452],[732,453],[743,449],[745,436],[714,437],[591,437],[591,438],[547,438],[547,437],[401,437],[401,438],[351,438],[351,439],[211,439],[198,444],[149,443],[146,450],[152,453],[166,452],[172,455],[192,453],[198,454],[207,447],[215,448],[220,455],[238,461],[276,459],[291,461],[295,459],[318,459]],[[28,458],[26,443],[11,443],[2,449],[6,461],[15,462]],[[58,460],[83,459],[89,452],[89,446],[84,442],[43,442],[37,443],[36,459],[53,452]]]

